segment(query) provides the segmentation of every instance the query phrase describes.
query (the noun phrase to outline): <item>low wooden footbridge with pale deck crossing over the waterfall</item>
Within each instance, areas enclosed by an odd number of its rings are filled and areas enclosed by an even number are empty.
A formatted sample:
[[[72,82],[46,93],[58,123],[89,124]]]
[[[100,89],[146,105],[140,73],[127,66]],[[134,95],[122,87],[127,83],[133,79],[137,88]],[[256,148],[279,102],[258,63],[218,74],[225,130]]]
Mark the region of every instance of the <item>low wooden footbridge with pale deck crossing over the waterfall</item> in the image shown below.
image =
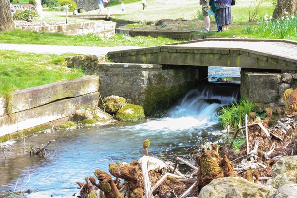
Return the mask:
[[[297,70],[297,42],[279,39],[209,38],[107,55],[123,63]]]

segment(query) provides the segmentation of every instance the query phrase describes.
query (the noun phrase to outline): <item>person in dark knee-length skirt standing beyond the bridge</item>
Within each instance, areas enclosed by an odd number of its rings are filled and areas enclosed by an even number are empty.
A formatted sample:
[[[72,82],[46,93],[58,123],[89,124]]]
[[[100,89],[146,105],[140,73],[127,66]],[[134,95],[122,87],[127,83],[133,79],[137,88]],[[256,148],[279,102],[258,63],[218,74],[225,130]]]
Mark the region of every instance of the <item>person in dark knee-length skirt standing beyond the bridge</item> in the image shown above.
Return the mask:
[[[231,23],[231,2],[232,0],[215,0],[215,6],[220,8],[216,11],[219,25],[222,31],[229,30],[228,25]]]

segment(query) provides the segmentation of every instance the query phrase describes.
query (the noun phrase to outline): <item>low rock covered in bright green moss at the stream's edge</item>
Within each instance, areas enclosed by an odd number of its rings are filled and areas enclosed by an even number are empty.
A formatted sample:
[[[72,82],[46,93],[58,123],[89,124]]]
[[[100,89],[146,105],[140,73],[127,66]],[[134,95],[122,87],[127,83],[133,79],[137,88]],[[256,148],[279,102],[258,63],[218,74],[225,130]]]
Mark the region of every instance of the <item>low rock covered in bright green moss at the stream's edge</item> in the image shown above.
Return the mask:
[[[137,121],[145,118],[144,108],[140,105],[126,104],[115,115],[121,121]]]

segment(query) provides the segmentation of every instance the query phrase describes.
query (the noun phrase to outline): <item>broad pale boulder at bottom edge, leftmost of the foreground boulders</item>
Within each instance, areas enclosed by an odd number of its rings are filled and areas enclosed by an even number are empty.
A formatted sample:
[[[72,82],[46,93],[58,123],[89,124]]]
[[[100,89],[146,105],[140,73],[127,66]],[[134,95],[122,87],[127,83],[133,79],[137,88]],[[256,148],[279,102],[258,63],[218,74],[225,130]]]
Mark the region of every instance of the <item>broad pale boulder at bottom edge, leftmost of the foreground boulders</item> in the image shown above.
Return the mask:
[[[223,177],[204,186],[198,198],[268,198],[275,189],[240,177]]]

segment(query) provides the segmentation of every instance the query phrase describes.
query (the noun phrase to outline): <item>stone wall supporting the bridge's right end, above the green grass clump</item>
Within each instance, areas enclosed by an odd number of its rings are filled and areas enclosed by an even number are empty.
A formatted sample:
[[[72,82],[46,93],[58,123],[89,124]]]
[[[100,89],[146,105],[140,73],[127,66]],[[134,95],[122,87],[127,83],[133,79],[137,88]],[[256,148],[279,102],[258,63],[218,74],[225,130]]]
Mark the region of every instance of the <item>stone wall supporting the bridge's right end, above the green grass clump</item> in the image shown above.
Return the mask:
[[[272,72],[242,69],[241,97],[269,106],[273,111],[279,106],[284,106],[283,94],[286,89],[297,87],[297,73],[296,71]]]

